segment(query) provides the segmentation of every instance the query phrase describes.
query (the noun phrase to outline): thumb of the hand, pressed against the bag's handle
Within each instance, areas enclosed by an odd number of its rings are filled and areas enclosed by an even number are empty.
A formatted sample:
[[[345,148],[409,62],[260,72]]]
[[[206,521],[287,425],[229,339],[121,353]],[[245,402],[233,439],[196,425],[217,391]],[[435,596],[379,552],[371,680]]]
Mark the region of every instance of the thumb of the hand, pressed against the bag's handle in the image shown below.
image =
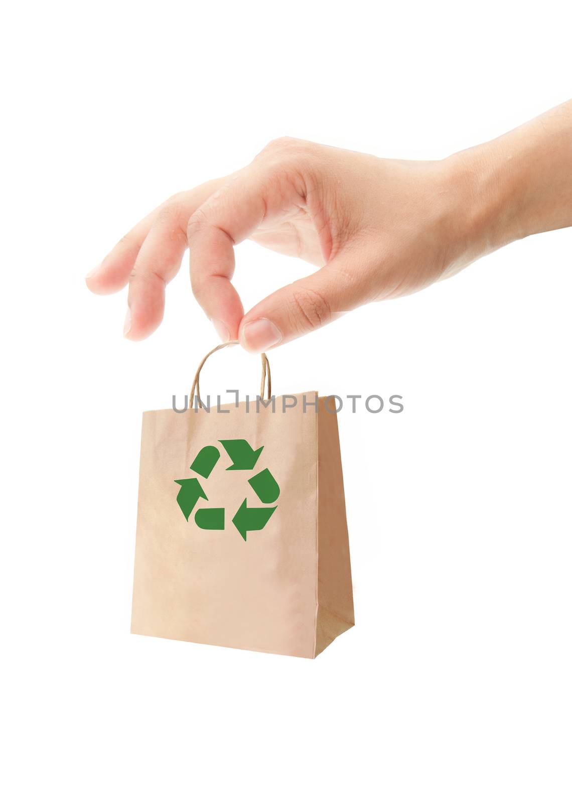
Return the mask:
[[[267,296],[243,317],[239,340],[250,352],[263,352],[329,324],[366,300],[359,266],[340,254],[316,273]]]

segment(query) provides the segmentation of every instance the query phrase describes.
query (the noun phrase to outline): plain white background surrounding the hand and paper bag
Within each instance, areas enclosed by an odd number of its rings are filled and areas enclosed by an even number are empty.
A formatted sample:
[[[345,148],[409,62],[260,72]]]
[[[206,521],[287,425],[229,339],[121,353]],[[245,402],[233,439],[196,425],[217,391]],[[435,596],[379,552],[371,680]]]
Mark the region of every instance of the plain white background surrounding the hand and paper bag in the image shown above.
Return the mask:
[[[570,801],[570,230],[272,353],[339,416],[356,626],[316,661],[129,635],[141,410],[216,342],[84,274],[272,138],[440,158],[572,96],[566,4],[22,2],[2,22],[6,801]],[[251,243],[249,308],[304,275]],[[239,349],[204,388],[258,386]],[[240,386],[244,388],[245,382]],[[7,748],[7,750],[6,750]]]

